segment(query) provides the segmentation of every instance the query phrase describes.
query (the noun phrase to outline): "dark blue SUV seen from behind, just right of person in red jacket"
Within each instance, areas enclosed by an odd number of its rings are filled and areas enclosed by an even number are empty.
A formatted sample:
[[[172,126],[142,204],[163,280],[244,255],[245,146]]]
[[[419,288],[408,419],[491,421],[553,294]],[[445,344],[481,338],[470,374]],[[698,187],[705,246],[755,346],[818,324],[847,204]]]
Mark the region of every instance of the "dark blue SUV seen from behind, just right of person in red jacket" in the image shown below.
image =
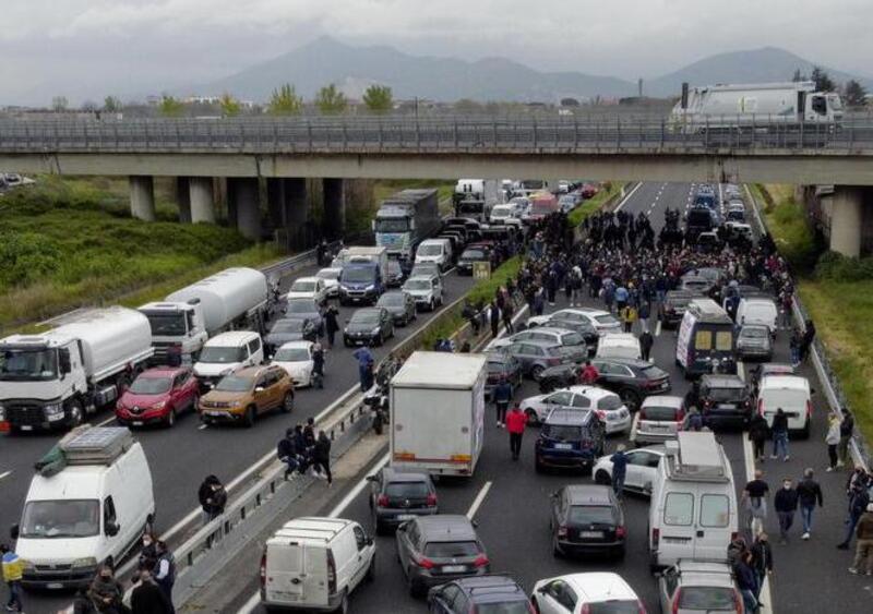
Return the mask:
[[[603,455],[606,429],[594,411],[553,409],[535,444],[535,467],[591,471],[594,461]]]

